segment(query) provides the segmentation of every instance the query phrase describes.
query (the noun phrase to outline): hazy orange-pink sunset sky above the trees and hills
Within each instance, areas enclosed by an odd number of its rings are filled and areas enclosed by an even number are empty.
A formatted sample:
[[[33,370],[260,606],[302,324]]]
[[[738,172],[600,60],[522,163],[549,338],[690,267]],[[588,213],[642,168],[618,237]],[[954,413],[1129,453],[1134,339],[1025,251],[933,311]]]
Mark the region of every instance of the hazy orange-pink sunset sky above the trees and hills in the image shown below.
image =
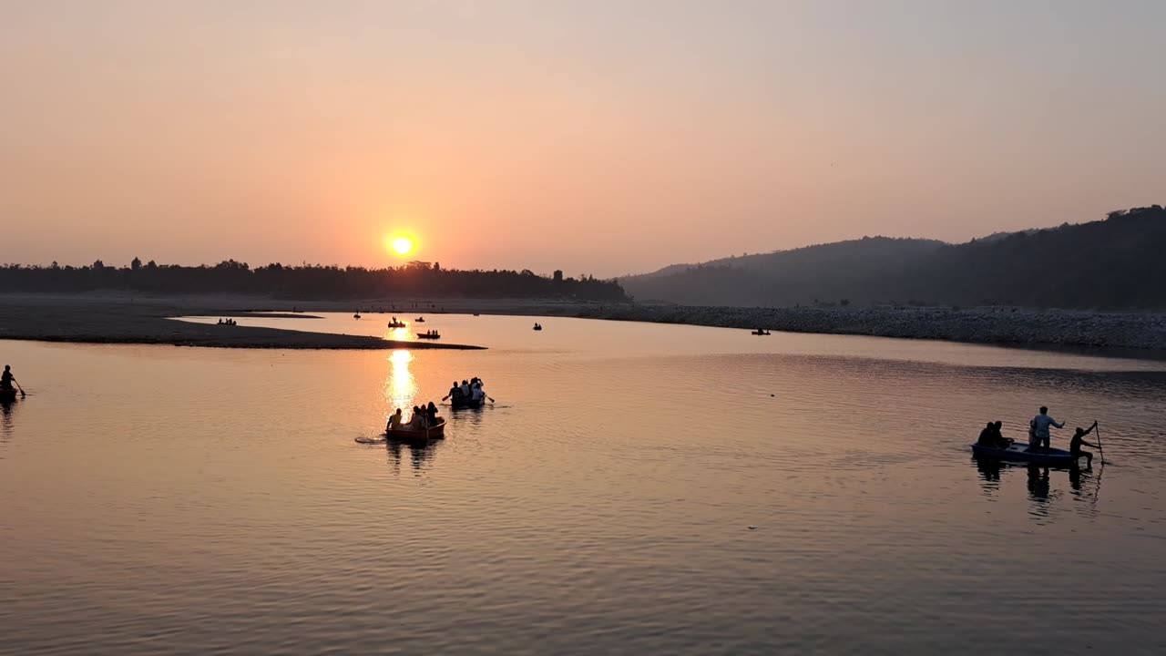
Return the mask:
[[[1166,2],[0,0],[0,261],[617,275],[1166,203]]]

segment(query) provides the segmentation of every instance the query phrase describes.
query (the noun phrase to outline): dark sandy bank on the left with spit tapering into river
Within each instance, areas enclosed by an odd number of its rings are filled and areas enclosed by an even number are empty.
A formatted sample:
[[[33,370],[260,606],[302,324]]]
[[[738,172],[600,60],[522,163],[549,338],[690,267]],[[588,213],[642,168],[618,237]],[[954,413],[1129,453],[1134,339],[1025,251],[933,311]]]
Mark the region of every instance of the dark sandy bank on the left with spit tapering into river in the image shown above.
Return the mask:
[[[307,333],[250,326],[175,321],[177,316],[241,316],[251,299],[192,296],[0,295],[0,340],[93,344],[173,344],[243,349],[480,349],[469,344],[393,341],[364,335]],[[308,315],[292,316],[311,319]]]

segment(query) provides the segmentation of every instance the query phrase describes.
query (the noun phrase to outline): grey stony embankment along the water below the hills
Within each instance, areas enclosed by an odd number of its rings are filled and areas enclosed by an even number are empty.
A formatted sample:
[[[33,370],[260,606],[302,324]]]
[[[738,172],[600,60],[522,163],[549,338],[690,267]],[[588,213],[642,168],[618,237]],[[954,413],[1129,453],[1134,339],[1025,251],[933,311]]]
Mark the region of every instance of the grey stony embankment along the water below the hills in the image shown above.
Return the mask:
[[[1166,313],[1011,307],[737,308],[607,305],[584,308],[575,316],[986,344],[1166,350]]]

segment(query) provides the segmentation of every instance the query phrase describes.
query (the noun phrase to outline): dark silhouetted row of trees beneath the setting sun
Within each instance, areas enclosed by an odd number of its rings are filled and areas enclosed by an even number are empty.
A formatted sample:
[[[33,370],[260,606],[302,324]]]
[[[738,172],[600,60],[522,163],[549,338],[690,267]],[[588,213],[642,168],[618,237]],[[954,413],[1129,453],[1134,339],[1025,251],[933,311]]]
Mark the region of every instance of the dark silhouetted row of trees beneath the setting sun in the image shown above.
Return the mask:
[[[302,265],[280,263],[252,268],[233,259],[216,265],[146,264],[128,266],[8,264],[0,267],[0,288],[8,292],[76,293],[125,289],[155,294],[234,293],[282,299],[372,299],[393,296],[564,298],[619,302],[628,300],[618,280],[592,275],[552,277],[529,270],[462,271],[440,263],[414,261],[398,267]]]

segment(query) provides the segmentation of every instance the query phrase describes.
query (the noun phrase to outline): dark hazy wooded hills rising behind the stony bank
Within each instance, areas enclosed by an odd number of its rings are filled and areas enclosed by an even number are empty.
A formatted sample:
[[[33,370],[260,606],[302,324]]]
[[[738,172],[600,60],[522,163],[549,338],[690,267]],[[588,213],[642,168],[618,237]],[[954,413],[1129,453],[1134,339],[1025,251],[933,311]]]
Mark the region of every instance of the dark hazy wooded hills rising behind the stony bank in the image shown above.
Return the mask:
[[[620,279],[637,300],[684,305],[1021,305],[1166,308],[1166,210],[996,233],[967,244],[865,237],[674,265]]]

